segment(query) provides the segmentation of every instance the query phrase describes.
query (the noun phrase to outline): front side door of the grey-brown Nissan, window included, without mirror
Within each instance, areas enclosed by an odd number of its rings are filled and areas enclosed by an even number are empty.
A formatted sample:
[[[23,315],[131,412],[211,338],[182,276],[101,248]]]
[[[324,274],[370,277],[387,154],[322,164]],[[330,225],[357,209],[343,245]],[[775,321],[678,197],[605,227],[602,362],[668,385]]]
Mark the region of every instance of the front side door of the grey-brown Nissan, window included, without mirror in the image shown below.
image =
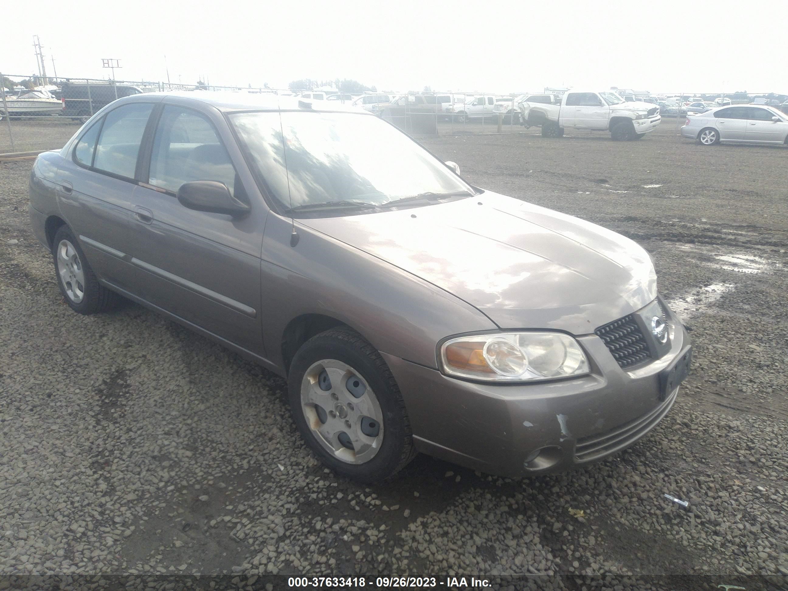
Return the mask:
[[[260,251],[267,208],[250,202],[225,145],[228,139],[236,162],[242,160],[229,132],[220,136],[206,114],[164,107],[150,147],[150,169],[143,171],[147,183],[133,196],[147,213],[135,220],[133,262],[141,269],[147,301],[261,353]],[[236,199],[251,204],[251,213],[230,217],[189,210],[176,194],[191,180],[224,183]]]

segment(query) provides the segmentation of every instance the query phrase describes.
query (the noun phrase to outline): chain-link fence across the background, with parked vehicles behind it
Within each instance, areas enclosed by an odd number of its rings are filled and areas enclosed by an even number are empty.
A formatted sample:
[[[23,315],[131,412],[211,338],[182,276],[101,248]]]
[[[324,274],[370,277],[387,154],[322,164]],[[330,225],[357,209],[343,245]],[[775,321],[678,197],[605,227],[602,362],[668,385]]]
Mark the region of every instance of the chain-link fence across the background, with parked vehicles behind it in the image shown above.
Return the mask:
[[[563,89],[562,89],[563,90]],[[170,84],[151,80],[98,80],[93,78],[55,78],[41,80],[32,76],[0,73],[0,154],[43,151],[61,147],[93,113],[114,100],[128,95],[158,91],[230,91],[251,94],[293,95],[286,89],[266,87],[226,87],[206,84]],[[760,102],[788,111],[782,102],[786,95],[771,93],[686,92],[629,95],[618,91],[626,101],[640,100],[660,106],[663,125],[683,125],[693,103],[706,108],[726,104]],[[559,100],[561,91],[543,89],[535,95],[552,95]],[[329,100],[331,91],[305,91],[313,100]],[[500,95],[489,92],[369,92],[363,95],[336,94],[333,99],[366,109],[412,136],[515,133],[529,129],[522,121],[519,104],[530,95]],[[538,128],[530,128],[538,132]]]

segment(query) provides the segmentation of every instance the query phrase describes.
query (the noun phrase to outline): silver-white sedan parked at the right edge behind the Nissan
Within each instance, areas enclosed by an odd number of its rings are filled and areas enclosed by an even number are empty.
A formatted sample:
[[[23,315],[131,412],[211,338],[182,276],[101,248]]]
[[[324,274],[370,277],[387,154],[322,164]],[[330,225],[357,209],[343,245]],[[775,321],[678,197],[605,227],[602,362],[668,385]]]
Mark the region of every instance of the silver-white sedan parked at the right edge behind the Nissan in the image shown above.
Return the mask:
[[[723,106],[687,117],[682,136],[704,146],[719,142],[786,143],[788,116],[771,106]]]

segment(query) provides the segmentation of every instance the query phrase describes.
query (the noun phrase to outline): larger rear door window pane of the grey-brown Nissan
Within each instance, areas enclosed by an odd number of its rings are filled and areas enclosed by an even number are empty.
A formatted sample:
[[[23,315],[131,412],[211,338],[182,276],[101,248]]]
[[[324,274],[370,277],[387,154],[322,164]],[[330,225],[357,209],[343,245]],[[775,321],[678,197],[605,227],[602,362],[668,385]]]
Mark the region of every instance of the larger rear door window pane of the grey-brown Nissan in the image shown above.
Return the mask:
[[[106,173],[134,178],[139,144],[153,105],[139,102],[118,107],[104,117],[93,166]]]

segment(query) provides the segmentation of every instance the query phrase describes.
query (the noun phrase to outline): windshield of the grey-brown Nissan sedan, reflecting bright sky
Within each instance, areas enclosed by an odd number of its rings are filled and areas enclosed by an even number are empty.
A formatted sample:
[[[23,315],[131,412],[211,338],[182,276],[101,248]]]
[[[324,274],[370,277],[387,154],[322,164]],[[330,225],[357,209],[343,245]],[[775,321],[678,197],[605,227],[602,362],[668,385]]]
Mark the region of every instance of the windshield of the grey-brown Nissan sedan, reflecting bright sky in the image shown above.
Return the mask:
[[[475,191],[403,132],[356,113],[253,112],[230,116],[256,173],[284,210],[370,213]],[[405,205],[403,203],[403,205]],[[314,217],[314,216],[313,216]]]

